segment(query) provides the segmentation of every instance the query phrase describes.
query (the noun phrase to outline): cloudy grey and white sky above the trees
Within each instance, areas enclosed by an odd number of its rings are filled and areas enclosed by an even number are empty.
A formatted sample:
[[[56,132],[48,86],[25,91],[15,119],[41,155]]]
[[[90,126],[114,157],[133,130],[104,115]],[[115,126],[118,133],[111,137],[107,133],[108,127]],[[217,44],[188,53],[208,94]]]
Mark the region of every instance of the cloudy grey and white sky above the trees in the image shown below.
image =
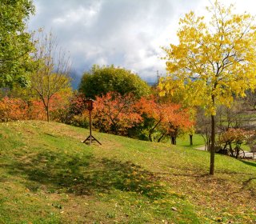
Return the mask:
[[[213,2],[214,0],[212,0]],[[256,14],[254,0],[235,3]],[[34,0],[29,30],[52,31],[70,52],[74,82],[93,64],[122,66],[154,82],[165,74],[161,46],[177,43],[178,20],[190,10],[206,14],[210,0]]]

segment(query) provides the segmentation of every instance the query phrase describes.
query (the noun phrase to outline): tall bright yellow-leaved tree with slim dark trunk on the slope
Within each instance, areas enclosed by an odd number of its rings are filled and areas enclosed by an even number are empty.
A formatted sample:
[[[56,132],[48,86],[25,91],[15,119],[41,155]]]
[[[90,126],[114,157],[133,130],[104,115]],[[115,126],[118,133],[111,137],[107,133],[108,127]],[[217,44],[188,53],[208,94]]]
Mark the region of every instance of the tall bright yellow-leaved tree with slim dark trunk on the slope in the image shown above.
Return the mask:
[[[166,51],[167,76],[162,94],[182,88],[193,105],[211,117],[210,174],[214,174],[215,114],[218,105],[229,106],[234,95],[256,86],[256,27],[250,14],[233,14],[234,6],[218,1],[206,10],[210,20],[194,12],[180,19],[178,45]]]

